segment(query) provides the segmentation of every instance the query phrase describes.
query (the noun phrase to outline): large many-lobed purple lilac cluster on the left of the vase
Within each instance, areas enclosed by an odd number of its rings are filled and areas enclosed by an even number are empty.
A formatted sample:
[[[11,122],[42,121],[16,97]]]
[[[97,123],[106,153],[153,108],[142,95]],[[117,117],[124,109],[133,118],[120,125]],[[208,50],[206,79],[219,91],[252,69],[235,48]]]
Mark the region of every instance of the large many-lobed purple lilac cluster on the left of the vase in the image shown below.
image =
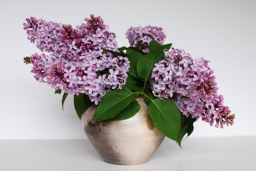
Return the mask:
[[[33,65],[31,72],[39,82],[69,95],[85,93],[96,105],[107,91],[126,84],[129,60],[103,53],[103,49],[118,51],[118,47],[115,34],[100,16],[90,15],[86,24],[76,28],[33,17],[26,20],[23,25],[28,39],[49,52],[24,58]]]

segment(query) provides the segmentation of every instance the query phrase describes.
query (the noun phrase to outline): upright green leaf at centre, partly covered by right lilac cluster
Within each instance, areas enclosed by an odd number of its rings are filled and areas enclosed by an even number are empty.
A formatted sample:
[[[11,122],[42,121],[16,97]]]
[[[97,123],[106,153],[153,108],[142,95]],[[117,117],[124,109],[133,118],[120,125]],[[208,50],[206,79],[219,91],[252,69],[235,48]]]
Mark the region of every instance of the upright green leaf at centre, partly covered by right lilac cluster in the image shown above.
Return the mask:
[[[150,81],[152,69],[155,68],[155,64],[163,58],[163,52],[148,53],[146,55],[141,56],[137,62],[138,76],[146,81]]]

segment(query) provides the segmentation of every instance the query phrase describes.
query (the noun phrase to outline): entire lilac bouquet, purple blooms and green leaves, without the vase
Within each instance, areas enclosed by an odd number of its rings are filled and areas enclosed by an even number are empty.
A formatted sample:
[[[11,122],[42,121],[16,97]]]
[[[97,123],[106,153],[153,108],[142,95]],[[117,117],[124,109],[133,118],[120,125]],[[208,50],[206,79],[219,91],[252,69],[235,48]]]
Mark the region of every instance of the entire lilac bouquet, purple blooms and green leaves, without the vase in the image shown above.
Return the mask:
[[[97,105],[92,120],[123,120],[140,109],[144,97],[152,122],[180,145],[200,119],[210,126],[234,123],[234,114],[223,105],[209,61],[192,59],[183,49],[164,44],[161,27],[131,27],[130,47],[118,48],[115,34],[100,16],[71,25],[31,17],[24,30],[41,55],[24,57],[32,64],[35,79],[51,85],[55,93],[74,97],[77,115]]]

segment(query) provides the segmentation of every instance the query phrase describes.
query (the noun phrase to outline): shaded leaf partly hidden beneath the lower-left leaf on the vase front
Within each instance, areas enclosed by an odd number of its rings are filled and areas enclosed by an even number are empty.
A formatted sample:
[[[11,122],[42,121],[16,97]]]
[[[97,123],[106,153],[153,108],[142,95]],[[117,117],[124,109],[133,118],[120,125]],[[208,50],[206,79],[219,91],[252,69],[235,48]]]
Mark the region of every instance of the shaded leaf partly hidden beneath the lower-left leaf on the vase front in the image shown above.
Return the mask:
[[[137,114],[139,109],[141,109],[141,105],[139,105],[137,100],[134,100],[128,106],[126,106],[125,109],[123,109],[116,116],[114,116],[114,118],[110,118],[104,121],[129,119]]]

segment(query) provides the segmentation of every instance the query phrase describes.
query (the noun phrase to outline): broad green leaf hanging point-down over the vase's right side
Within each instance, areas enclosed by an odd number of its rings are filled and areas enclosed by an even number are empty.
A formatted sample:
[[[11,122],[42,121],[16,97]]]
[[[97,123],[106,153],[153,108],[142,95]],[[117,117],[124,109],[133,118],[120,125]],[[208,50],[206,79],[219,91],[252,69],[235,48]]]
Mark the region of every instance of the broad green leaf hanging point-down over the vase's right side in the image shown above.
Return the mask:
[[[175,103],[157,98],[151,101],[148,112],[155,127],[168,138],[177,141],[180,132],[180,111]]]

